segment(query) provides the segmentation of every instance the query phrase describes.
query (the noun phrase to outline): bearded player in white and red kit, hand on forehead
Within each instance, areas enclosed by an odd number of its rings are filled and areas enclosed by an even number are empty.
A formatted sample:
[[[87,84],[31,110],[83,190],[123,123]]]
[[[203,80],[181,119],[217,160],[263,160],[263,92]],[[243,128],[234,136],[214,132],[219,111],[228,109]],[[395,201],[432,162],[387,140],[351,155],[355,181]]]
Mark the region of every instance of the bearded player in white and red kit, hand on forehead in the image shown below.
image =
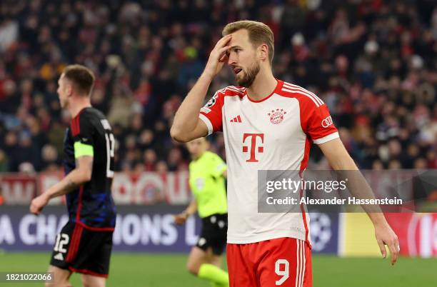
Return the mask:
[[[303,171],[311,144],[336,170],[357,170],[338,137],[328,108],[311,91],[275,79],[273,33],[257,21],[223,29],[203,74],[176,112],[171,136],[186,142],[223,131],[228,164],[227,260],[231,287],[312,286],[308,214],[258,213],[258,170]],[[202,108],[211,81],[227,64],[228,86]],[[200,110],[200,114],[199,114]],[[376,241],[391,262],[398,238],[382,213],[369,213]]]

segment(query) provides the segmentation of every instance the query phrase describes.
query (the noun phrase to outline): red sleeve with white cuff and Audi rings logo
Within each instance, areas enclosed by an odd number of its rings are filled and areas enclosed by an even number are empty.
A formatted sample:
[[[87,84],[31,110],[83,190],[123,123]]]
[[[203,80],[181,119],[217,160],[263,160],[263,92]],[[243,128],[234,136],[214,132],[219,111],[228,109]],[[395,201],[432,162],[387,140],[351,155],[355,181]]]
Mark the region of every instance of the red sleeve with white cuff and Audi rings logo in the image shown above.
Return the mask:
[[[338,138],[338,131],[326,104],[316,106],[309,103],[306,111],[301,111],[301,119],[304,121],[305,133],[314,144],[324,144]]]

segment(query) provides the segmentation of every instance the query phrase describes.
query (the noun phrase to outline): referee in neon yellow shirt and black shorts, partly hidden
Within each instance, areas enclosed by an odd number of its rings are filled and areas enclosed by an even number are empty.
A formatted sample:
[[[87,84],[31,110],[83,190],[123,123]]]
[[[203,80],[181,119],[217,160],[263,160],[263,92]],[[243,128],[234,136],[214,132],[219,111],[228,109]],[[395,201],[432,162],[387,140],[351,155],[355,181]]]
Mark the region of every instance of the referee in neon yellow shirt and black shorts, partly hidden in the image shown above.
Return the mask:
[[[190,273],[207,279],[214,287],[229,286],[228,273],[221,269],[221,254],[226,245],[228,207],[226,203],[226,163],[207,151],[204,137],[186,144],[191,158],[189,183],[194,199],[185,211],[175,216],[177,224],[199,211],[202,230],[197,245],[191,248],[186,264]]]

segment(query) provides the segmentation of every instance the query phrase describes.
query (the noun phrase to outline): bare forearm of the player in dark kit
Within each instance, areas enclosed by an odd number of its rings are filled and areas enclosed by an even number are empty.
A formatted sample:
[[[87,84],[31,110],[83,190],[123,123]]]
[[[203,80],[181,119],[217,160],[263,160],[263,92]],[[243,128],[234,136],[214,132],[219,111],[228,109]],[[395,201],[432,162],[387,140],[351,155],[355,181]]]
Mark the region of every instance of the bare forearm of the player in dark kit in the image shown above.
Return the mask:
[[[90,180],[91,177],[86,172],[75,168],[66,177],[62,178],[59,183],[51,186],[51,188],[46,191],[46,196],[48,196],[49,199],[57,196],[63,196],[64,194],[76,190],[79,188],[79,186]]]

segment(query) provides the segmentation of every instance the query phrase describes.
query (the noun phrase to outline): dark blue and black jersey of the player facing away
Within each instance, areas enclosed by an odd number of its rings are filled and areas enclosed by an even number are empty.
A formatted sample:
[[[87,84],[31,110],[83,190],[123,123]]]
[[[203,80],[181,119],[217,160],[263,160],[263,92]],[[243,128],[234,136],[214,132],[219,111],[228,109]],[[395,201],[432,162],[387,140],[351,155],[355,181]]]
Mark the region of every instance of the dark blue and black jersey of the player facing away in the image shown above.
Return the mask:
[[[114,228],[116,210],[111,196],[114,177],[114,135],[109,122],[94,108],[83,109],[66,129],[64,168],[68,174],[76,168],[75,143],[92,146],[93,171],[91,181],[66,195],[70,221],[91,228]],[[83,146],[82,145],[82,146]],[[76,151],[78,154],[78,151]]]

